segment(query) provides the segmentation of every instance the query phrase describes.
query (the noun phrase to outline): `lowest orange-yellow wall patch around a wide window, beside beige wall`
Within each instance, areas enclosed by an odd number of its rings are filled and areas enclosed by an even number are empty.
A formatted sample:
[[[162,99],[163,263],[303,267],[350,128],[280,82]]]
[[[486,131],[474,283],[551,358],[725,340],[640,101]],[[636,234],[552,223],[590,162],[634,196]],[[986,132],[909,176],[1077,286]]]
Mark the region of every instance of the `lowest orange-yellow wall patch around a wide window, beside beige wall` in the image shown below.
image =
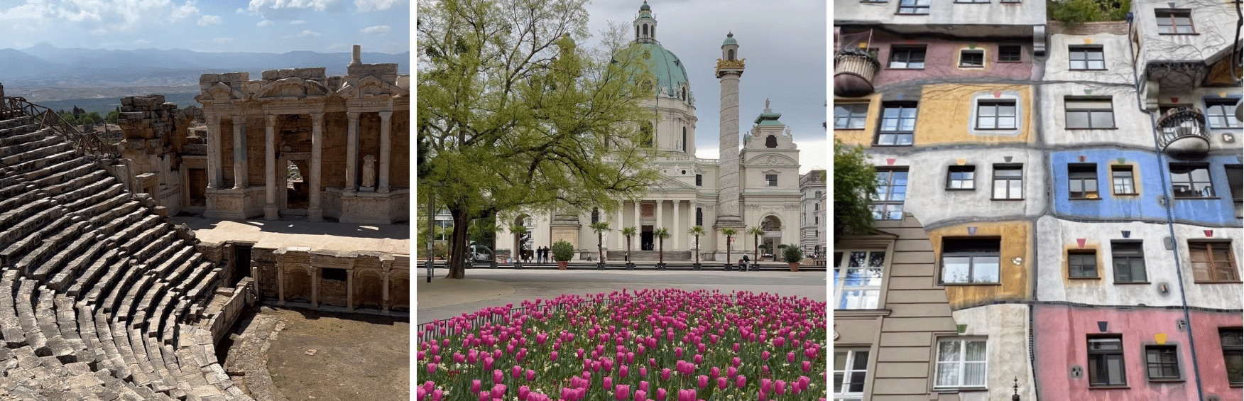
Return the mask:
[[[968,227],[975,227],[977,234],[968,235]],[[945,298],[954,310],[989,304],[995,300],[1023,300],[1031,298],[1031,275],[1036,260],[1033,249],[1033,227],[1029,222],[982,222],[952,225],[929,230],[933,252],[938,255],[938,278],[942,275],[940,255],[942,238],[1000,237],[999,285],[945,285]],[[1019,265],[1015,258],[1021,258]]]

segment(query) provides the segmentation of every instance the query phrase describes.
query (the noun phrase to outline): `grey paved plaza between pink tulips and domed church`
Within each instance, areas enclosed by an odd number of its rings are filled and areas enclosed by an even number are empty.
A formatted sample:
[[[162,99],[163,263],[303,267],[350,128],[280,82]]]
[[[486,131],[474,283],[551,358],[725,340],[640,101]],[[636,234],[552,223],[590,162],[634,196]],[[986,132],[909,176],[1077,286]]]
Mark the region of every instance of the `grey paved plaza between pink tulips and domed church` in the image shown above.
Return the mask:
[[[418,269],[415,319],[428,323],[449,319],[483,308],[518,305],[527,299],[550,299],[561,294],[612,293],[622,289],[678,288],[694,290],[746,290],[796,295],[825,301],[825,271],[641,271],[641,270],[493,270],[468,269],[466,279],[444,279],[437,269],[427,283]],[[414,273],[414,271],[412,271]]]

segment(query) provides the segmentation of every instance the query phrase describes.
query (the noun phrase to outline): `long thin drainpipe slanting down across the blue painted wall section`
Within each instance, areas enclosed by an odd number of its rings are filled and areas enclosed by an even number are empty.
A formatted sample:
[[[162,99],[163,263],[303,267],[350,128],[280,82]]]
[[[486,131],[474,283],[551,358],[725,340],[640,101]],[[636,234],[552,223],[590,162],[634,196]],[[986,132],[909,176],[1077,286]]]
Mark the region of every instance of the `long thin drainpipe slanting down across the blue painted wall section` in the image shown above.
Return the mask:
[[[1237,0],[1237,2],[1239,0]],[[1127,31],[1131,32],[1132,16],[1131,12],[1128,14],[1130,15],[1127,19],[1127,27],[1128,27]],[[1171,255],[1174,258],[1174,274],[1177,278],[1176,283],[1179,284],[1179,308],[1183,310],[1183,321],[1188,324],[1188,352],[1189,355],[1192,355],[1192,372],[1197,382],[1197,400],[1204,400],[1205,395],[1200,385],[1200,366],[1199,364],[1197,364],[1197,342],[1192,329],[1192,316],[1189,316],[1188,314],[1188,294],[1183,289],[1183,264],[1179,263],[1179,244],[1178,242],[1176,242],[1176,235],[1174,235],[1174,210],[1173,210],[1174,198],[1171,197],[1171,184],[1169,181],[1167,179],[1169,174],[1169,168],[1166,169],[1162,168],[1163,166],[1168,166],[1168,162],[1166,154],[1162,153],[1162,148],[1158,144],[1161,142],[1158,122],[1157,122],[1158,117],[1154,116],[1153,112],[1144,108],[1144,98],[1141,97],[1141,85],[1143,85],[1143,82],[1140,81],[1140,75],[1136,71],[1137,70],[1136,49],[1132,46],[1131,39],[1127,40],[1127,44],[1128,44],[1127,49],[1132,52],[1132,81],[1135,82],[1135,88],[1136,88],[1136,101],[1137,101],[1136,105],[1141,110],[1141,112],[1148,115],[1149,117],[1149,127],[1153,130],[1153,153],[1157,154],[1158,169],[1163,171],[1163,173],[1158,174],[1158,178],[1162,179],[1162,198],[1164,199],[1163,203],[1166,204],[1163,209],[1166,210],[1166,218],[1167,218],[1167,233],[1171,234]]]

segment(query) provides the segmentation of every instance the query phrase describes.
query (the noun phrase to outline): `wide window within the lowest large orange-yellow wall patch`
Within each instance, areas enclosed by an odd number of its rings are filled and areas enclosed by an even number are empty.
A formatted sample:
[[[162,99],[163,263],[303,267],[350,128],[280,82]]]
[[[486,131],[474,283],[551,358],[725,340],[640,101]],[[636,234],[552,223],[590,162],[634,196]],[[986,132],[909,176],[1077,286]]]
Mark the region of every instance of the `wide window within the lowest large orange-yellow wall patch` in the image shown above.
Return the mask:
[[[996,284],[1001,240],[947,238],[942,240],[943,284]]]

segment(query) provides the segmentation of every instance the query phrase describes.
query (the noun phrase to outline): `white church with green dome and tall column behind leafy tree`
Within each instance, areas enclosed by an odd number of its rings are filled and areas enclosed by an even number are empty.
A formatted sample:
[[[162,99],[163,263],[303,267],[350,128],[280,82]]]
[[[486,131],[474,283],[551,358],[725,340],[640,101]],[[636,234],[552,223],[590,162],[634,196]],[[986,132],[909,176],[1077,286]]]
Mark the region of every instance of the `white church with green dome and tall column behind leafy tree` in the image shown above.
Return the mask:
[[[734,34],[726,34],[722,42],[722,59],[714,71],[693,71],[697,77],[708,78],[712,72],[722,87],[718,116],[720,158],[695,157],[695,95],[683,62],[657,41],[657,19],[647,1],[639,6],[634,19],[634,42],[651,55],[648,68],[656,76],[654,96],[642,102],[656,112],[651,122],[653,146],[658,157],[653,159],[661,179],[639,200],[626,200],[618,210],[606,213],[590,210],[580,215],[559,210],[527,210],[516,217],[498,220],[498,225],[522,224],[530,235],[499,233],[496,248],[500,258],[518,255],[519,249],[550,247],[557,240],[575,245],[576,260],[600,260],[596,233],[588,227],[595,222],[608,222],[605,238],[606,258],[621,262],[626,253],[626,237],[621,229],[634,227],[631,254],[634,262],[657,260],[657,239],[653,230],[666,228],[671,237],[664,240],[667,262],[694,260],[695,239],[688,234],[693,225],[704,228],[699,238],[700,262],[725,263],[725,235],[723,228],[739,232],[731,252],[734,259],[755,249],[753,235],[745,234],[751,227],[765,230],[761,245],[776,249],[779,244],[799,243],[799,149],[790,130],[769,108],[753,121],[746,134],[739,127],[739,80],[744,61]],[[644,127],[647,130],[647,127]],[[743,141],[740,149],[739,141]],[[761,252],[764,253],[764,252]],[[736,260],[730,260],[736,262]]]

